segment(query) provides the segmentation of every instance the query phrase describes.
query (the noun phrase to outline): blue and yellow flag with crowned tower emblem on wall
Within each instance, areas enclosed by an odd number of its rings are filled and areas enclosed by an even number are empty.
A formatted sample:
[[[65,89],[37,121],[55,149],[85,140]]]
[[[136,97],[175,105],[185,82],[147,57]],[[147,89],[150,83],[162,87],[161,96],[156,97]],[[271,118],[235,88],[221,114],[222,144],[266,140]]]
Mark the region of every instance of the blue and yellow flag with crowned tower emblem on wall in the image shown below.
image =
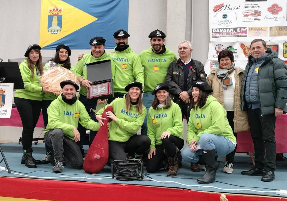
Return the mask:
[[[90,49],[90,39],[102,36],[105,48],[113,49],[113,33],[128,31],[128,14],[129,0],[41,0],[39,45],[42,49],[59,44]]]

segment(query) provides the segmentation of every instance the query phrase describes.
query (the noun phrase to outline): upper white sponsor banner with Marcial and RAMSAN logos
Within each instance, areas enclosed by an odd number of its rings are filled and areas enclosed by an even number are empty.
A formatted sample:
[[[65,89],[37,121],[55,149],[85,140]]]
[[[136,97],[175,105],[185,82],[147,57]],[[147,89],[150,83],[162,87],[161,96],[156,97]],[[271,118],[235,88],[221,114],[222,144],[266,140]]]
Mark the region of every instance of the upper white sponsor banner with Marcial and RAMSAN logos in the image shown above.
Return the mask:
[[[286,2],[210,0],[209,14],[210,41],[286,40]]]

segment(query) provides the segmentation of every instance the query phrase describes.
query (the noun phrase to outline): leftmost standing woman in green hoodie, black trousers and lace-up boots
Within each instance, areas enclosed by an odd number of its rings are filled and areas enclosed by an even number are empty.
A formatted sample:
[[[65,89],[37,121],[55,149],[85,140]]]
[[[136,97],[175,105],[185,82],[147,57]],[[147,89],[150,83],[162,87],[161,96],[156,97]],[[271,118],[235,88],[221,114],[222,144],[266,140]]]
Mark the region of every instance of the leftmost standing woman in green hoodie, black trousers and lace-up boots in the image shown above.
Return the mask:
[[[24,82],[24,89],[17,89],[14,103],[21,117],[23,124],[22,146],[24,155],[21,163],[26,167],[36,168],[41,161],[35,160],[32,156],[32,140],[36,123],[38,122],[42,98],[44,92],[51,92],[48,87],[42,87],[39,82],[40,74],[43,71],[41,47],[30,45],[19,68]]]

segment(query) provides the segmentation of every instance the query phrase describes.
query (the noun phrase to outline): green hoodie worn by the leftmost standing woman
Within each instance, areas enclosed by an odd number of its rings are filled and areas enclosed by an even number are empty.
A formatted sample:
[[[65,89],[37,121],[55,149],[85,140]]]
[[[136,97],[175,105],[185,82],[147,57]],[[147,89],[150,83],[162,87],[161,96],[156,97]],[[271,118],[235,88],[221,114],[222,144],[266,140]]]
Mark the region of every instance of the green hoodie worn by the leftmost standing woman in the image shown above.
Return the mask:
[[[15,97],[26,98],[30,100],[42,100],[44,93],[39,82],[40,72],[37,72],[34,65],[34,77],[31,76],[31,70],[28,67],[27,59],[24,59],[19,65],[21,76],[24,82],[24,89],[17,89]]]

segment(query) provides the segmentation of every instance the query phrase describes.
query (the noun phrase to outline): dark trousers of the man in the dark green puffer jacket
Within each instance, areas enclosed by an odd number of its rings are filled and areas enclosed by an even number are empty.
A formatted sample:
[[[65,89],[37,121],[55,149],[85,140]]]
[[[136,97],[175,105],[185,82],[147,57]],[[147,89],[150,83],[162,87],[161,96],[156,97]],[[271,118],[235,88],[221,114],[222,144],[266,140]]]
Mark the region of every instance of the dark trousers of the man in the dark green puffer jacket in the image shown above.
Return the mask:
[[[275,171],[276,164],[276,141],[275,141],[275,121],[273,114],[261,116],[261,110],[248,109],[248,121],[251,137],[255,150],[255,166],[258,169]],[[264,158],[266,150],[266,155]],[[264,160],[265,159],[265,160]]]

